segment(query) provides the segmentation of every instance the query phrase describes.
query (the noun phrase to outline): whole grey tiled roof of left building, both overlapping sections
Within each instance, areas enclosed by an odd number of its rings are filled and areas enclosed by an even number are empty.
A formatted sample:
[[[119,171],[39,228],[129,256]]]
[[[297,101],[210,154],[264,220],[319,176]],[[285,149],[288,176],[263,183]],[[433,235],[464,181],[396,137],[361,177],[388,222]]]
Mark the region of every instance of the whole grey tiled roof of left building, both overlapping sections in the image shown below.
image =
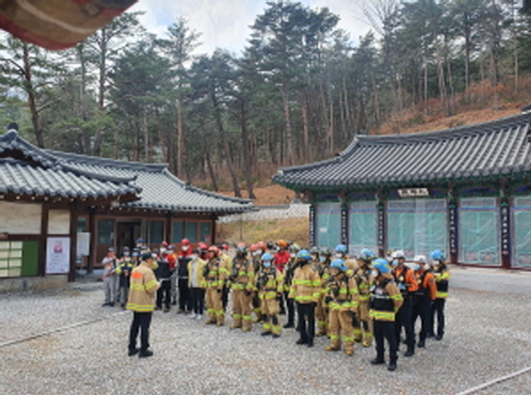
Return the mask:
[[[190,186],[173,176],[166,164],[117,161],[36,148],[14,131],[0,137],[2,157],[9,159],[0,159],[0,192],[4,187],[15,193],[82,196],[104,194],[108,190],[108,194],[136,194],[136,200],[123,202],[122,208],[217,215],[254,209],[249,200]]]

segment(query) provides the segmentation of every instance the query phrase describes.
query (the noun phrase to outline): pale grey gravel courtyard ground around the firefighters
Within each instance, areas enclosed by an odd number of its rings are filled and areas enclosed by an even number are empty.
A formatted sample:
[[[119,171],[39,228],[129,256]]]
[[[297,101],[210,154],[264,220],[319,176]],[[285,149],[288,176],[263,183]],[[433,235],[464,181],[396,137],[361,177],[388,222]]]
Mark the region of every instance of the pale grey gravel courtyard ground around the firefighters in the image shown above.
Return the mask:
[[[531,295],[451,289],[447,333],[428,340],[396,372],[373,367],[373,348],[327,353],[326,338],[296,346],[294,330],[276,340],[185,315],[156,312],[152,358],[127,357],[131,313],[101,308],[99,285],[63,292],[3,295],[0,393],[453,394],[531,364]],[[73,323],[99,320],[24,342]],[[227,317],[226,322],[230,323]],[[404,346],[402,346],[402,352]],[[531,393],[531,373],[477,393]]]

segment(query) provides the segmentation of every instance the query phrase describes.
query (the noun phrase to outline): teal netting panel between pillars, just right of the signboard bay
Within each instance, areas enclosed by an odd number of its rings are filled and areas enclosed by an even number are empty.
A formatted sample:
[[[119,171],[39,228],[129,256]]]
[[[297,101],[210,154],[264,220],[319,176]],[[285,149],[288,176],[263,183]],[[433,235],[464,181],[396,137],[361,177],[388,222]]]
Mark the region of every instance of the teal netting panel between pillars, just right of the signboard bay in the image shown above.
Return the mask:
[[[496,198],[459,202],[459,262],[499,266],[499,209]]]

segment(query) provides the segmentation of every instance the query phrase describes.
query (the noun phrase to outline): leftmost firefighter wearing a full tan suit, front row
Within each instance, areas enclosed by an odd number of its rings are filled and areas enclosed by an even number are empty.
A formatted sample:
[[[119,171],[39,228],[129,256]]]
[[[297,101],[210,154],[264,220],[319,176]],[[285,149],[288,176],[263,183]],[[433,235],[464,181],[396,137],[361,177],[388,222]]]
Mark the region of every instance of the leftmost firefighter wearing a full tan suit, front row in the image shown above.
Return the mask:
[[[206,323],[225,323],[222,292],[227,282],[228,272],[225,261],[219,257],[219,248],[211,246],[208,249],[209,260],[204,266],[204,287],[206,288]]]

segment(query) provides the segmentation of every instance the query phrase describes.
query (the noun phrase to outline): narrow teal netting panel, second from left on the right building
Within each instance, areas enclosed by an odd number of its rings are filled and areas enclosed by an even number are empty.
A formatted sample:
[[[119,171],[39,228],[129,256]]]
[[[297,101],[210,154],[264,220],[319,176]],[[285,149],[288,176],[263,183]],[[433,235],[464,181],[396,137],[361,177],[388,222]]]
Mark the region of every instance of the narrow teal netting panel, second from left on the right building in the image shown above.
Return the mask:
[[[378,210],[375,201],[355,201],[349,207],[349,252],[378,251]]]

